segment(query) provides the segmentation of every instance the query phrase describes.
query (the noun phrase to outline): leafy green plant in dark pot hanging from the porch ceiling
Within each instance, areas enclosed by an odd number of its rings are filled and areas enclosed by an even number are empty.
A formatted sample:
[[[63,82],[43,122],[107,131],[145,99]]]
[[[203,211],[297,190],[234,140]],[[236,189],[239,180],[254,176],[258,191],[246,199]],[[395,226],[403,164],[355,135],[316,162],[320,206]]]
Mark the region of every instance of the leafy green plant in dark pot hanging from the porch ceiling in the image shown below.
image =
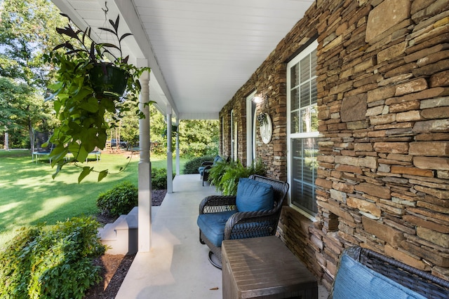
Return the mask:
[[[105,148],[107,130],[114,127],[114,121],[124,111],[139,102],[141,86],[139,78],[148,67],[138,68],[128,64],[123,57],[121,42],[127,36],[119,35],[119,17],[109,20],[110,28],[99,28],[112,33],[117,40],[113,43],[95,43],[91,39],[91,28],[74,28],[69,17],[64,28],[56,28],[64,42],[55,46],[46,55],[46,60],[58,67],[56,83],[49,88],[53,94],[47,99],[54,102],[55,114],[60,125],[48,140],[54,144],[51,151],[51,165],[57,166],[53,179],[69,162],[83,162],[95,148]],[[150,104],[150,103],[146,103]],[[112,123],[106,120],[111,114]],[[144,117],[139,111],[140,118]],[[67,159],[67,154],[71,153]],[[76,164],[77,165],[77,164]],[[83,167],[78,181],[93,172],[92,167]],[[98,181],[108,171],[98,174]]]

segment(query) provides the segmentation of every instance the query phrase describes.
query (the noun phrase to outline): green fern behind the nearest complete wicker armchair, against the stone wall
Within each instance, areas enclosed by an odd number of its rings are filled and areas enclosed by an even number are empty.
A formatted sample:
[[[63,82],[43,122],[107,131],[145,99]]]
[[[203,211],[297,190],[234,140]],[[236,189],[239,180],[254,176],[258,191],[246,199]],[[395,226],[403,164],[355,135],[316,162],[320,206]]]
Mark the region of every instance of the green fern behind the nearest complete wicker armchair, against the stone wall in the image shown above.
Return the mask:
[[[251,174],[263,176],[265,172],[262,160],[253,161],[250,167],[244,167],[240,161],[222,161],[210,169],[209,181],[223,195],[236,195],[240,178],[247,178]]]

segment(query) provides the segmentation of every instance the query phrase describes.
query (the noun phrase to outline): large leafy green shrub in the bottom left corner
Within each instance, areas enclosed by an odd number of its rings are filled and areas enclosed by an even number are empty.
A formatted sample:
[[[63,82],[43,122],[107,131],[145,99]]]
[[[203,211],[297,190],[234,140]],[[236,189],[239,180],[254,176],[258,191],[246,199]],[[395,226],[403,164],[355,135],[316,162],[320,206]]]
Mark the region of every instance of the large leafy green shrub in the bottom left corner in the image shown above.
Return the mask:
[[[83,298],[101,281],[94,258],[105,253],[93,218],[51,228],[22,228],[0,252],[0,298]]]

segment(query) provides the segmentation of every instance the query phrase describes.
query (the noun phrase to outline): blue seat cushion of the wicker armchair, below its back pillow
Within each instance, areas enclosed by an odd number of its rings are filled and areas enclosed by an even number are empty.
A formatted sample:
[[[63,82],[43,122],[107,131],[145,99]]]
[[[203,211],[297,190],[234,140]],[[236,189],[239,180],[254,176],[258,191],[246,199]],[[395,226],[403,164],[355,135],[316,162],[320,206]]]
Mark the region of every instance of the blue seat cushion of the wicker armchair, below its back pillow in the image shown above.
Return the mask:
[[[222,246],[226,221],[237,211],[201,214],[196,219],[199,229],[217,247]]]

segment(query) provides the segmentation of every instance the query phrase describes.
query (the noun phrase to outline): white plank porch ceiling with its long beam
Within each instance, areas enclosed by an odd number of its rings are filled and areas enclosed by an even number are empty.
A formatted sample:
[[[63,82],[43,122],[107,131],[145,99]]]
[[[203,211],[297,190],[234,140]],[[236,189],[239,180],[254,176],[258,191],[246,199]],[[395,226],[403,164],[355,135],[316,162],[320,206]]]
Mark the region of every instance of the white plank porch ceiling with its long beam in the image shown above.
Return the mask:
[[[150,98],[180,119],[217,119],[314,0],[52,0],[82,29],[121,15],[130,61],[152,68]],[[126,24],[125,24],[126,23]],[[112,36],[97,34],[95,39]]]

